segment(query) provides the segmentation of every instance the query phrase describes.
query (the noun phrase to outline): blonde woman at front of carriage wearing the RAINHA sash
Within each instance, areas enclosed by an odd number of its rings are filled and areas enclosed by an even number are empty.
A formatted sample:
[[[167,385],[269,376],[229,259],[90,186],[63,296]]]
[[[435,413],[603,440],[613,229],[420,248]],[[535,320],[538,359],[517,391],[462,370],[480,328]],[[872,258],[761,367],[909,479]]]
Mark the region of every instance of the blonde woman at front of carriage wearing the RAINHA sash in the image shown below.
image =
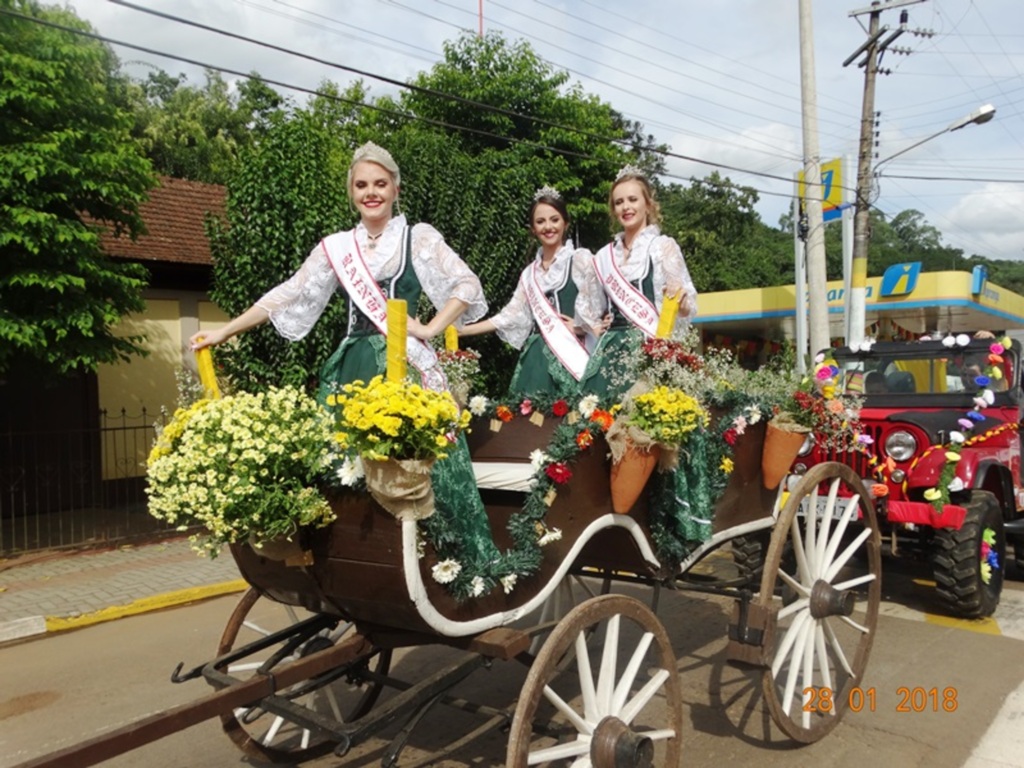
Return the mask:
[[[384,148],[372,142],[358,147],[348,169],[348,195],[359,214],[353,229],[325,238],[299,270],[253,306],[216,331],[190,339],[193,349],[221,344],[269,321],[286,339],[304,337],[339,288],[348,299],[348,329],[337,351],[321,371],[319,399],[343,384],[369,381],[387,369],[388,298],[404,299],[415,312],[421,292],[437,309],[429,323],[409,317],[408,352],[424,387],[446,387],[437,356],[425,340],[465,317],[487,310],[477,276],[430,224],[410,226],[394,215],[401,176]],[[458,538],[460,559],[488,562],[498,556],[476,485],[465,439],[432,474],[435,508]],[[430,524],[430,520],[426,521]]]

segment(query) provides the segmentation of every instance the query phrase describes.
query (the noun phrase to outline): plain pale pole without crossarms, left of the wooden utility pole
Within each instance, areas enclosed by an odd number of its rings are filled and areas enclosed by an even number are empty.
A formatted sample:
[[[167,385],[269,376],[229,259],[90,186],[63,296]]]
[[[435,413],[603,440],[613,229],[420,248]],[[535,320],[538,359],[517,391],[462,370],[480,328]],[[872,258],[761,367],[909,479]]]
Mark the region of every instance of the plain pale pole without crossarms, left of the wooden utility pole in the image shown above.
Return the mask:
[[[807,213],[807,293],[810,353],[813,358],[830,343],[825,233],[821,218],[821,156],[818,150],[818,101],[814,78],[814,24],[811,0],[800,0],[800,90],[804,130],[804,200]],[[803,313],[803,304],[797,308]]]

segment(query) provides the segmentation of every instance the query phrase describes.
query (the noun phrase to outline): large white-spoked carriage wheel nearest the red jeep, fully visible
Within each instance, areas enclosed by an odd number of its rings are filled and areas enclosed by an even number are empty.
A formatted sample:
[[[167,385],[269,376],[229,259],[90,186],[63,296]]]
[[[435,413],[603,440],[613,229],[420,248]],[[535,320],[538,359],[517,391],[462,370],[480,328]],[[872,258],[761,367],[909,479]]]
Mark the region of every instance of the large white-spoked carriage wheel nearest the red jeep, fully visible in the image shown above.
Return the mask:
[[[765,561],[758,604],[773,621],[764,694],[779,727],[804,743],[835,728],[861,695],[882,593],[879,525],[866,493],[843,464],[812,468],[790,494]]]

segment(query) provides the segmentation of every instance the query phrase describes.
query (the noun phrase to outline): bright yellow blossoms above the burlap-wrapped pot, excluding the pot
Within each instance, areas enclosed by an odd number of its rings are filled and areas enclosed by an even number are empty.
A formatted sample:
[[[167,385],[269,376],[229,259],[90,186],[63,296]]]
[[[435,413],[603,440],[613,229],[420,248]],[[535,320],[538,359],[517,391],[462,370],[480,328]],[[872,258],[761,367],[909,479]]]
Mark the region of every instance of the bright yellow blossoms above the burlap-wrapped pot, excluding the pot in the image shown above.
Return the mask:
[[[328,406],[338,409],[337,440],[365,459],[442,459],[469,424],[451,395],[375,377],[346,384]]]

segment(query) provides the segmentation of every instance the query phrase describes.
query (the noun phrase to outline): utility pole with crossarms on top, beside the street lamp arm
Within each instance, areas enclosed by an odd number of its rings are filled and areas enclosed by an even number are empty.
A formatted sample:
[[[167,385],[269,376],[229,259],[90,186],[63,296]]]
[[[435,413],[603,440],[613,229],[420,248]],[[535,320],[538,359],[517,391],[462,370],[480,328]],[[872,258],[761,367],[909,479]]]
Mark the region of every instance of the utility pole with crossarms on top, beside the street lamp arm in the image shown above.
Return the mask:
[[[864,99],[860,112],[860,143],[857,148],[857,190],[853,214],[853,259],[850,275],[850,294],[846,299],[850,329],[847,344],[857,346],[864,340],[865,310],[867,300],[867,244],[870,240],[871,207],[871,155],[874,144],[874,79],[879,74],[879,56],[900,35],[906,31],[907,12],[900,12],[900,26],[883,40],[889,28],[882,28],[883,11],[904,5],[922,3],[925,0],[876,0],[868,8],[851,10],[851,16],[870,14],[867,40],[844,62],[848,67],[861,53],[864,58],[858,65],[864,68]]]

